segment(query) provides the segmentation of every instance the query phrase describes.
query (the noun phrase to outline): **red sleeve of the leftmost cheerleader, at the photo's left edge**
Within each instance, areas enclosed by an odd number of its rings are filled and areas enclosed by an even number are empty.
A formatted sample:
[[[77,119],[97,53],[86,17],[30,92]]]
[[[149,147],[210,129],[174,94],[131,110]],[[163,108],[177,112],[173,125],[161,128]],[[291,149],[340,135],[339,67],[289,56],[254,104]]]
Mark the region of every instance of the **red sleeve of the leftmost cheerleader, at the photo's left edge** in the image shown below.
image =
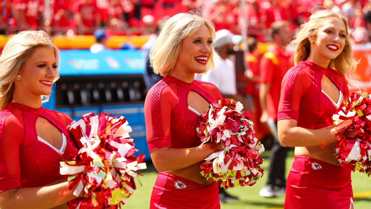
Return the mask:
[[[0,124],[0,193],[9,189],[20,188],[19,147],[22,131],[19,120],[11,116]]]

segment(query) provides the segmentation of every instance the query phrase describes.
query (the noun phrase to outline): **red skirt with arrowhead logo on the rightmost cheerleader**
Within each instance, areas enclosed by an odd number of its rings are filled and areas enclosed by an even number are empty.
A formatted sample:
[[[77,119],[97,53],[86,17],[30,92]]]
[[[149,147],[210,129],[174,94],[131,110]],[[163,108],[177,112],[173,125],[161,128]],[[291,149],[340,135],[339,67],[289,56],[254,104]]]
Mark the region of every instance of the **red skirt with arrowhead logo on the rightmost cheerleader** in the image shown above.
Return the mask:
[[[295,156],[287,178],[285,209],[349,209],[353,204],[351,171]]]

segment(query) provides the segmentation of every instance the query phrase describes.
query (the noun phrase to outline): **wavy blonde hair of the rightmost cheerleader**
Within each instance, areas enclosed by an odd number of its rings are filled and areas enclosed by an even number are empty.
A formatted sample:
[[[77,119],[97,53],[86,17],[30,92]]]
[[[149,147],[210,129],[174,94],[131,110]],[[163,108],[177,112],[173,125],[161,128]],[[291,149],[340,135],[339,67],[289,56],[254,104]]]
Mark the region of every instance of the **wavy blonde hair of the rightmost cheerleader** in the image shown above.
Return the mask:
[[[348,73],[353,74],[357,67],[357,61],[353,58],[352,45],[350,42],[350,29],[348,19],[344,15],[332,12],[329,9],[318,10],[309,17],[309,21],[301,25],[301,31],[295,35],[295,39],[291,42],[290,46],[296,46],[294,61],[295,65],[299,62],[307,60],[311,53],[311,43],[308,38],[316,36],[318,28],[324,20],[329,18],[339,18],[345,25],[345,46],[343,51],[334,60],[329,63],[329,68],[335,68],[340,74]]]

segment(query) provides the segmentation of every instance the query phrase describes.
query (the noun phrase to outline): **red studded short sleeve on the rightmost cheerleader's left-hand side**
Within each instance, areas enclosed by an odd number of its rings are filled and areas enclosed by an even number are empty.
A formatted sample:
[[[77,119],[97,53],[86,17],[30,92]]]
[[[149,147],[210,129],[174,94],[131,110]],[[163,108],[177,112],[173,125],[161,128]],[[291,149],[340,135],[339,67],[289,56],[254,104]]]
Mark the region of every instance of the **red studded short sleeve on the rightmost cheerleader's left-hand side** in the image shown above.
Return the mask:
[[[277,120],[298,120],[301,97],[308,91],[311,83],[310,73],[300,68],[292,68],[285,74],[281,84]]]

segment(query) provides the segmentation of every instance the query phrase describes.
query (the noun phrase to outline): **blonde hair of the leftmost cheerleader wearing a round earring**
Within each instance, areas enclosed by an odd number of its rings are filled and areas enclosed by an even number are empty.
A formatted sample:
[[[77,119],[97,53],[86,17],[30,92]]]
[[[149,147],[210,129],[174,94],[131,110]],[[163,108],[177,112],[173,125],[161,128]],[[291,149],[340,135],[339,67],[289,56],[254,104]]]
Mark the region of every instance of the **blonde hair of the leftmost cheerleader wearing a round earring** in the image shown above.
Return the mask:
[[[14,79],[18,71],[30,59],[38,46],[46,46],[54,51],[58,66],[60,63],[59,49],[53,44],[53,39],[46,32],[26,30],[13,35],[5,44],[0,55],[0,110],[12,101]],[[53,83],[59,78],[58,70]],[[49,95],[42,95],[43,102],[49,100]]]

